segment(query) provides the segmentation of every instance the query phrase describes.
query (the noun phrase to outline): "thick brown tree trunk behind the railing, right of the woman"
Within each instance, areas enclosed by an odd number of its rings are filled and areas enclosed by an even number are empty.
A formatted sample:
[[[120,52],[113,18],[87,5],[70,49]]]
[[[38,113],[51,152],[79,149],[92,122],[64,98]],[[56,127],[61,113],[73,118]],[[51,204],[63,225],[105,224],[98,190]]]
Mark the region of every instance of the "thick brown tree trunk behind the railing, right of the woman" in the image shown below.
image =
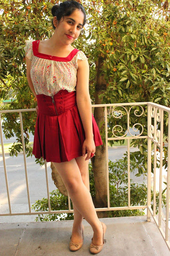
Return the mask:
[[[104,74],[101,75],[101,68],[103,65],[103,58],[99,57],[96,62],[96,88],[95,88],[95,104],[101,104],[102,99],[99,95],[102,90],[106,90],[106,80]],[[95,108],[94,118],[99,127],[100,132],[105,128],[104,109]],[[106,175],[106,146],[96,147],[96,156],[91,158],[92,168],[94,173],[94,182],[96,189],[96,198],[94,198],[94,205],[96,208],[107,207],[107,175]],[[107,217],[107,212],[97,212],[99,218]]]

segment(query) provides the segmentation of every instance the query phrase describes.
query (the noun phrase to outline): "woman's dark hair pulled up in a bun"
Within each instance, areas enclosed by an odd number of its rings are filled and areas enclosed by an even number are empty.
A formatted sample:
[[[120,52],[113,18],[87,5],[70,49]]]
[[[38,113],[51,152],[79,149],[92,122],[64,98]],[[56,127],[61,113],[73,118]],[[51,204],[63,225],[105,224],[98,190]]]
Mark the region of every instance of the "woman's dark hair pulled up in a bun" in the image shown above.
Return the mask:
[[[84,14],[84,22],[83,26],[86,24],[86,11],[84,10],[84,7],[79,2],[76,2],[75,0],[68,0],[64,1],[63,3],[56,4],[52,7],[51,12],[52,15],[57,17],[57,20],[60,21],[61,18],[64,19],[64,16],[70,16],[74,10],[81,10]],[[55,26],[53,24],[53,28],[55,29]]]

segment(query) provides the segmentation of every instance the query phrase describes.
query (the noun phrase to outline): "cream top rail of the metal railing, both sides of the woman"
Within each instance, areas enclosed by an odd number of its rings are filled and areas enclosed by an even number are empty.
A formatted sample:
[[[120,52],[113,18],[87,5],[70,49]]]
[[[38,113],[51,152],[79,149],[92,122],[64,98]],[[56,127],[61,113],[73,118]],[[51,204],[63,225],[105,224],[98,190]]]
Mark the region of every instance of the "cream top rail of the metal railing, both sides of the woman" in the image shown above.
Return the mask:
[[[149,106],[153,106],[153,107],[162,109],[164,111],[170,112],[170,108],[160,105],[160,104],[157,104],[157,103],[153,103],[153,102],[126,102],[126,103],[114,103],[114,104],[94,104],[94,105],[92,105],[92,108],[115,107],[115,106],[139,106],[139,105],[149,105]],[[27,112],[27,111],[35,111],[35,108],[0,110],[0,114],[12,113],[12,112]]]

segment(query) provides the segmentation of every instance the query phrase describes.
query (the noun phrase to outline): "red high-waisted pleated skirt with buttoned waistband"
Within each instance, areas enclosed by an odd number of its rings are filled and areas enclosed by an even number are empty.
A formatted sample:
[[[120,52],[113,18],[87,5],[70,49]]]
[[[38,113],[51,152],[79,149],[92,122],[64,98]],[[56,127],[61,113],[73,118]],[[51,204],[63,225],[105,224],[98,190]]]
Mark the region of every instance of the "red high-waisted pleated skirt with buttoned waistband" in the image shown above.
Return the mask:
[[[60,90],[51,96],[37,95],[38,114],[35,126],[33,154],[47,162],[66,162],[82,156],[85,132],[76,104],[76,92]],[[86,110],[85,110],[86,111]],[[94,142],[102,139],[92,115]]]

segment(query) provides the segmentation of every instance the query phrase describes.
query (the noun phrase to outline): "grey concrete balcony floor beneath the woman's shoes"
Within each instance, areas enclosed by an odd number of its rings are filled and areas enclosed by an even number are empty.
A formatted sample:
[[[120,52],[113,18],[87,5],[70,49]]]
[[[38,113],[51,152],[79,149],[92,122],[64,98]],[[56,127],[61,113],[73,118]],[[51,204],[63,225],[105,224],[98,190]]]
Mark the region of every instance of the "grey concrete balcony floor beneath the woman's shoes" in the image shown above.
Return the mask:
[[[107,226],[100,256],[170,256],[154,220],[146,216],[100,219]],[[84,244],[70,252],[73,220],[0,224],[0,256],[88,256],[92,228],[83,220]],[[162,220],[162,229],[165,223]]]

